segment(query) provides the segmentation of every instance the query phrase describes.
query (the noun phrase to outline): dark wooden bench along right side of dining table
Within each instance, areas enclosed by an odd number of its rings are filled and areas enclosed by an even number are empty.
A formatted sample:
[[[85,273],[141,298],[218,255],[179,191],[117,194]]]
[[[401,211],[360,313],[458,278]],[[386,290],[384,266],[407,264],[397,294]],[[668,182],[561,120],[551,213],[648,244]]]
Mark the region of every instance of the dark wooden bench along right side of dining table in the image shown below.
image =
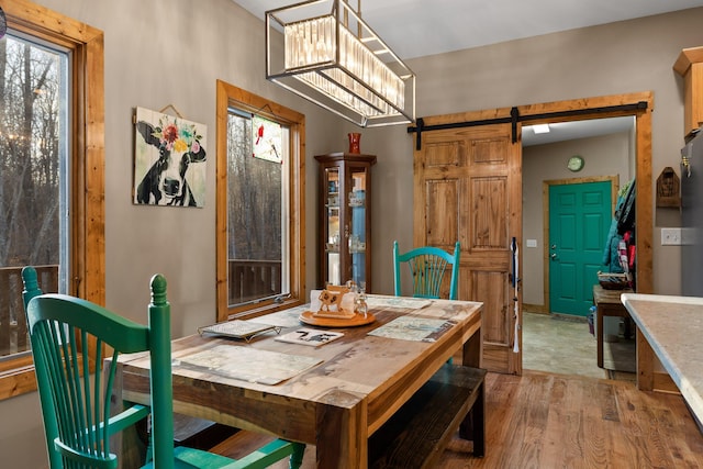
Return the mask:
[[[459,429],[486,450],[486,370],[445,364],[369,438],[369,468],[431,468]],[[471,415],[469,415],[469,412]]]

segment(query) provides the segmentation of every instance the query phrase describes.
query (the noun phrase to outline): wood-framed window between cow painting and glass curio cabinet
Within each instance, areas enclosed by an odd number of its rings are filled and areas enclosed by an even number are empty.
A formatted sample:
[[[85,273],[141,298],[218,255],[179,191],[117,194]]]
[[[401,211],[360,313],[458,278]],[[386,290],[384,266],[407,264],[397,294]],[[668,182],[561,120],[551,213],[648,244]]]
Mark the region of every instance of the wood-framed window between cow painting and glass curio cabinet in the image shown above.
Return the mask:
[[[217,81],[217,321],[304,300],[303,142],[302,114]]]

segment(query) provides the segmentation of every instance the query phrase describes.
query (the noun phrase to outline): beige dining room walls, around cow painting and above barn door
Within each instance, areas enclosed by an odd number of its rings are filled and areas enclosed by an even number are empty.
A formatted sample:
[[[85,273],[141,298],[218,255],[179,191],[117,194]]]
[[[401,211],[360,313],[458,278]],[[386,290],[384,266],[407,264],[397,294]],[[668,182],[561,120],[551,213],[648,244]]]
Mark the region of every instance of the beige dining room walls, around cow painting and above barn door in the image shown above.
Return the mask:
[[[107,305],[144,321],[147,283],[169,281],[174,334],[192,333],[215,314],[215,194],[204,209],[131,203],[134,107],[174,104],[208,125],[208,181],[214,188],[215,80],[261,94],[306,115],[308,287],[315,278],[315,176],[312,155],[346,147],[355,130],[264,79],[264,25],[230,0],[38,0],[105,33]],[[410,62],[417,74],[417,115],[654,90],[654,174],[678,167],[682,87],[671,69],[683,47],[703,43],[703,9],[514,41]],[[391,246],[412,245],[412,145],[404,127],[364,130],[373,168],[375,291],[390,293]],[[655,239],[657,239],[655,235]],[[677,293],[669,270],[678,250],[655,246],[655,288]],[[35,394],[0,402],[3,466],[45,464]],[[21,422],[21,424],[18,424]]]

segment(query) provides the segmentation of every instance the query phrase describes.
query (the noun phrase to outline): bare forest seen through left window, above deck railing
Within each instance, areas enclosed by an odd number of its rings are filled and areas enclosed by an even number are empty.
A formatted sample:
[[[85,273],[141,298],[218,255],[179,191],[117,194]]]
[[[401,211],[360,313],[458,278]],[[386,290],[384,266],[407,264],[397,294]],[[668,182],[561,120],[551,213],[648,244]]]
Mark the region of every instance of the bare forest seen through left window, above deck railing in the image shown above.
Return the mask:
[[[59,263],[67,62],[0,41],[0,267]]]

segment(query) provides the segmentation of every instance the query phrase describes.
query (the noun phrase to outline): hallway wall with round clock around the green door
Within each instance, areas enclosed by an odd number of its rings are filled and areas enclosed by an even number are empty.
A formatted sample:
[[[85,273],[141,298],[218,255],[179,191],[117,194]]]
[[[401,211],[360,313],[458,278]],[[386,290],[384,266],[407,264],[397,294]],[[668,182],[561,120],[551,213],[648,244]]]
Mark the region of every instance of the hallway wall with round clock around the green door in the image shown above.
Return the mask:
[[[545,306],[543,214],[547,208],[543,204],[543,182],[618,176],[623,186],[632,178],[628,169],[631,153],[629,132],[523,147],[523,303]],[[571,172],[567,169],[567,160],[571,155],[583,157],[585,164],[581,171]],[[527,247],[526,239],[535,239],[537,247]]]

